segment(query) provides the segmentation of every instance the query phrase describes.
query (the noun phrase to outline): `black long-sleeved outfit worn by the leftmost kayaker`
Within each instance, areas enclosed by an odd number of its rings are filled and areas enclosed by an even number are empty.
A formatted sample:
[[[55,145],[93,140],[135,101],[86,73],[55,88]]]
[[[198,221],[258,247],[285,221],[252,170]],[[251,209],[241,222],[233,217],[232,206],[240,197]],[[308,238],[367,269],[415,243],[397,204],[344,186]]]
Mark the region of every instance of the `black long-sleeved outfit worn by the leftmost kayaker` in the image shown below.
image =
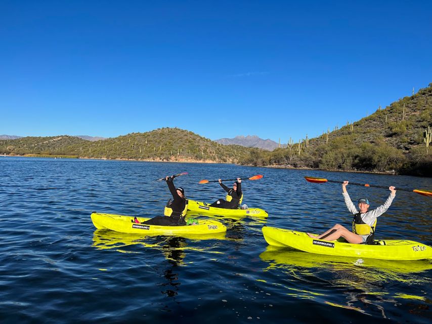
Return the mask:
[[[186,225],[184,217],[182,217],[182,212],[186,207],[186,199],[177,193],[177,189],[172,183],[173,178],[168,178],[166,183],[168,184],[169,191],[172,194],[172,200],[169,207],[172,209],[171,216],[156,216],[148,221],[142,222],[141,224],[149,225],[163,225],[163,226],[178,226]]]

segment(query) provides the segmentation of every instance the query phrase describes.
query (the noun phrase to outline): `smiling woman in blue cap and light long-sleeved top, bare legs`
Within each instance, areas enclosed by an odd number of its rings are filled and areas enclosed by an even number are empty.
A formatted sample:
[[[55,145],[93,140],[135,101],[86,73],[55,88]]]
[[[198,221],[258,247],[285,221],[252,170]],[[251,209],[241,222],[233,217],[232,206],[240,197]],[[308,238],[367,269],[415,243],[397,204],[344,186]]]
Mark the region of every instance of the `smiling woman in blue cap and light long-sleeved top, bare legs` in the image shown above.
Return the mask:
[[[388,196],[385,203],[379,206],[377,209],[369,211],[369,200],[367,198],[359,199],[359,210],[354,206],[351,201],[350,195],[347,191],[348,181],[343,181],[342,184],[342,195],[347,205],[348,210],[354,215],[353,219],[353,230],[350,231],[340,224],[334,225],[328,231],[321,235],[312,235],[307,233],[312,238],[325,239],[332,241],[342,236],[349,243],[353,244],[373,244],[373,237],[375,233],[375,225],[377,217],[384,214],[387,209],[392,205],[393,199],[396,196],[396,188],[394,186],[388,187],[390,195]]]

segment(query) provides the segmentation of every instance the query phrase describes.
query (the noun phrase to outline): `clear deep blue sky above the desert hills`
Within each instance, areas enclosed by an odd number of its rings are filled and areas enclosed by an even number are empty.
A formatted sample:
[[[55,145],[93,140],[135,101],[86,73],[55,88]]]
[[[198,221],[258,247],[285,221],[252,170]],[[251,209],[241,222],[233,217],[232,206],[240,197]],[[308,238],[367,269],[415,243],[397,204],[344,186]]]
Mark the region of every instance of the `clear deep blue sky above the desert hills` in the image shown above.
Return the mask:
[[[430,1],[0,0],[0,135],[313,137],[432,82]]]

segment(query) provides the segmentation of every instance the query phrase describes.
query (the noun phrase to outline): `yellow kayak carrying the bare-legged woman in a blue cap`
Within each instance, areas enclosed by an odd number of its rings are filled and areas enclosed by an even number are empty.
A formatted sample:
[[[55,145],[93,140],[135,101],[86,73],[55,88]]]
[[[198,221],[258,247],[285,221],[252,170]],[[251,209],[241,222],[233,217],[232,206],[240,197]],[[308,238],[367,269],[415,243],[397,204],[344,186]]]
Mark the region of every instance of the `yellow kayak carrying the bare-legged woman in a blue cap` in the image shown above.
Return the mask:
[[[264,238],[269,245],[334,256],[381,260],[432,259],[432,248],[411,240],[385,239],[379,245],[351,244],[339,239],[326,241],[309,237],[305,232],[264,226]]]

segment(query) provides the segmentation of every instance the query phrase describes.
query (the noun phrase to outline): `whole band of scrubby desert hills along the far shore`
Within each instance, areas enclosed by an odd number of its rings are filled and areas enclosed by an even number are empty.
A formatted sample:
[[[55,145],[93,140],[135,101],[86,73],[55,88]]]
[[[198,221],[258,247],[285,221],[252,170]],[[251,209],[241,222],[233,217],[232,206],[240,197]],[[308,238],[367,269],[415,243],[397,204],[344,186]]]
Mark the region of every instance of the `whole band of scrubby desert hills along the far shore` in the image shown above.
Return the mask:
[[[355,122],[273,151],[222,145],[178,128],[88,141],[61,135],[0,140],[0,154],[244,166],[432,177],[432,83]],[[317,133],[319,131],[317,130]],[[281,137],[285,134],[281,134]],[[288,137],[289,134],[286,136]]]

